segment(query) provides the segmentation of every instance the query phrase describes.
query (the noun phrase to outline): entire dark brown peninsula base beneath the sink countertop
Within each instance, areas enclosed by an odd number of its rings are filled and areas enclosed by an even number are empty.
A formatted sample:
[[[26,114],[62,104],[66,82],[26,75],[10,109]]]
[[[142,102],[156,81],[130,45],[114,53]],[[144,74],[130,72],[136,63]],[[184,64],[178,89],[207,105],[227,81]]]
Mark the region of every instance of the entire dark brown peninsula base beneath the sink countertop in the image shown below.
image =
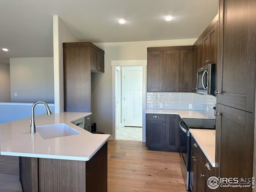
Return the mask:
[[[106,142],[89,161],[20,157],[24,192],[107,192]]]

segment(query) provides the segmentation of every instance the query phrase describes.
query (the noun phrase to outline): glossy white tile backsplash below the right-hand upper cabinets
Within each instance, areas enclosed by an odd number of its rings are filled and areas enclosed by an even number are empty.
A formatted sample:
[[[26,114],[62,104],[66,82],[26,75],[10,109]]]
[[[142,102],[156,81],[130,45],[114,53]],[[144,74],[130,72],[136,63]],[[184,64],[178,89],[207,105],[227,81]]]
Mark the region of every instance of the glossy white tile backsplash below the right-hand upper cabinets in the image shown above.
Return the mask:
[[[147,92],[148,109],[204,110],[214,112],[216,97],[184,92]]]

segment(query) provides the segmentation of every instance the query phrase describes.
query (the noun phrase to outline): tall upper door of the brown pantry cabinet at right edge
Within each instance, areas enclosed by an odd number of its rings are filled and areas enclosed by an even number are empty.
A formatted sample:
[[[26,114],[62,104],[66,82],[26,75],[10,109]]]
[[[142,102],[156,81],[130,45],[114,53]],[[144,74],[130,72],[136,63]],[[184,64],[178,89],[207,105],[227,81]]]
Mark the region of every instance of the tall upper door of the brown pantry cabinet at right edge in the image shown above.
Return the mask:
[[[220,1],[217,102],[254,113],[255,0]]]

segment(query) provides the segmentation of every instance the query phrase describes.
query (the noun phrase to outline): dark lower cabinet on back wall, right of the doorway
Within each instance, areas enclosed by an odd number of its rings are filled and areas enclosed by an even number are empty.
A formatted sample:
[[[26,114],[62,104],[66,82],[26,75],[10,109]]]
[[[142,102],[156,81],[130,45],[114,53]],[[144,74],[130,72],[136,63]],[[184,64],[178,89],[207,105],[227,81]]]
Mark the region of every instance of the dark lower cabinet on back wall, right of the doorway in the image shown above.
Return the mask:
[[[146,146],[155,150],[179,150],[179,116],[146,114]]]

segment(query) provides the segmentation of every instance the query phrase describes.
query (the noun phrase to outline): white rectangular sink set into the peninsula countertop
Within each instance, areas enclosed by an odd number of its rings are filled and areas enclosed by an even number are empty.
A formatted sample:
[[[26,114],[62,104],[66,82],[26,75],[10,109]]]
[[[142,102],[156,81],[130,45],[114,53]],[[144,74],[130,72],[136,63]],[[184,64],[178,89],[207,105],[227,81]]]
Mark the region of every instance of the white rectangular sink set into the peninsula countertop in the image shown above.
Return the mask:
[[[71,128],[70,126],[68,126],[64,123],[36,126],[36,131],[44,139],[51,139],[51,138],[58,138],[58,137],[81,134],[79,131]]]

